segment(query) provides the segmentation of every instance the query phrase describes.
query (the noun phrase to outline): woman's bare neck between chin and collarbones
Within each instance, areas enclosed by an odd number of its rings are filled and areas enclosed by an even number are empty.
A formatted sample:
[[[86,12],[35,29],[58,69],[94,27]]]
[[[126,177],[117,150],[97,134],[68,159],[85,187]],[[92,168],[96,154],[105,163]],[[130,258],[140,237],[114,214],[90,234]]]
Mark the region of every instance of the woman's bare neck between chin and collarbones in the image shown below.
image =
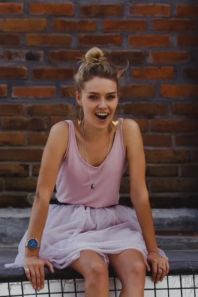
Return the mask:
[[[82,133],[82,123],[79,127],[81,127],[81,133]],[[84,131],[86,141],[88,142],[92,142],[92,141],[96,142],[96,141],[105,139],[106,137],[109,137],[109,125],[103,129],[96,129],[88,122],[83,120],[83,131]]]

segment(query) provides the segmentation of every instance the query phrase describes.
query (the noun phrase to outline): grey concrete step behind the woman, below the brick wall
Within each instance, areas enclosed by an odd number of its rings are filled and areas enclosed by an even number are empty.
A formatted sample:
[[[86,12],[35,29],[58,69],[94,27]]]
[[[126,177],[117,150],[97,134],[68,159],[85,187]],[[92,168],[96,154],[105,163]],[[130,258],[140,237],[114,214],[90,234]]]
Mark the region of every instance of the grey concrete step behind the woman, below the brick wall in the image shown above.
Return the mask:
[[[0,247],[18,247],[31,208],[0,209]],[[157,242],[165,249],[198,248],[198,209],[152,209]],[[171,230],[171,234],[167,234]],[[179,233],[183,235],[179,235]]]

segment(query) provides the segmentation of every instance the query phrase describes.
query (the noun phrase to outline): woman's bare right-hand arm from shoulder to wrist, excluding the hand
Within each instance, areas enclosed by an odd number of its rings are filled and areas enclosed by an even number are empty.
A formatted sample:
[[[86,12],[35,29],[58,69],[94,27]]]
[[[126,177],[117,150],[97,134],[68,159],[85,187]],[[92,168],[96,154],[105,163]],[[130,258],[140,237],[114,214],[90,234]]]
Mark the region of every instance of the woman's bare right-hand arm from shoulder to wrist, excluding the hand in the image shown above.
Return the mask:
[[[126,139],[131,201],[136,210],[148,252],[158,252],[145,181],[146,161],[142,135],[135,121],[125,119],[123,125],[125,125],[125,127],[123,127],[123,137]]]

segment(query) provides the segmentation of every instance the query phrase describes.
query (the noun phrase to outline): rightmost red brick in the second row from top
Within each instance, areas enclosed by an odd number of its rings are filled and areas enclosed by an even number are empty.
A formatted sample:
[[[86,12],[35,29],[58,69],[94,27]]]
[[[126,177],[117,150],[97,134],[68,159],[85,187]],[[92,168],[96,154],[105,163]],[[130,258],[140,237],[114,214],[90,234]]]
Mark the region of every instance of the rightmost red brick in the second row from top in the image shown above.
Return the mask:
[[[158,31],[191,31],[196,30],[196,21],[184,19],[153,19],[152,30]]]

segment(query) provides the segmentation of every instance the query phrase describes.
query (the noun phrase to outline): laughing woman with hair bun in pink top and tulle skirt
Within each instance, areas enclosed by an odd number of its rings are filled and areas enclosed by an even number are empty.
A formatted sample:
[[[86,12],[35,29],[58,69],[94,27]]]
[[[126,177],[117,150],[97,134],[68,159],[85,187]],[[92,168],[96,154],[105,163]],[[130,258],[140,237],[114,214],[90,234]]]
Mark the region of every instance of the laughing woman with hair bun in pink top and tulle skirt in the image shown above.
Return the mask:
[[[67,266],[85,278],[86,297],[108,297],[109,261],[122,283],[120,297],[143,297],[146,269],[152,281],[168,274],[157,248],[145,183],[145,155],[138,124],[114,119],[120,76],[98,48],[90,49],[75,75],[77,120],[52,126],[43,153],[29,228],[15,262],[35,289],[44,287],[44,265]],[[129,167],[135,211],[118,205]],[[56,185],[62,204],[49,204]]]

